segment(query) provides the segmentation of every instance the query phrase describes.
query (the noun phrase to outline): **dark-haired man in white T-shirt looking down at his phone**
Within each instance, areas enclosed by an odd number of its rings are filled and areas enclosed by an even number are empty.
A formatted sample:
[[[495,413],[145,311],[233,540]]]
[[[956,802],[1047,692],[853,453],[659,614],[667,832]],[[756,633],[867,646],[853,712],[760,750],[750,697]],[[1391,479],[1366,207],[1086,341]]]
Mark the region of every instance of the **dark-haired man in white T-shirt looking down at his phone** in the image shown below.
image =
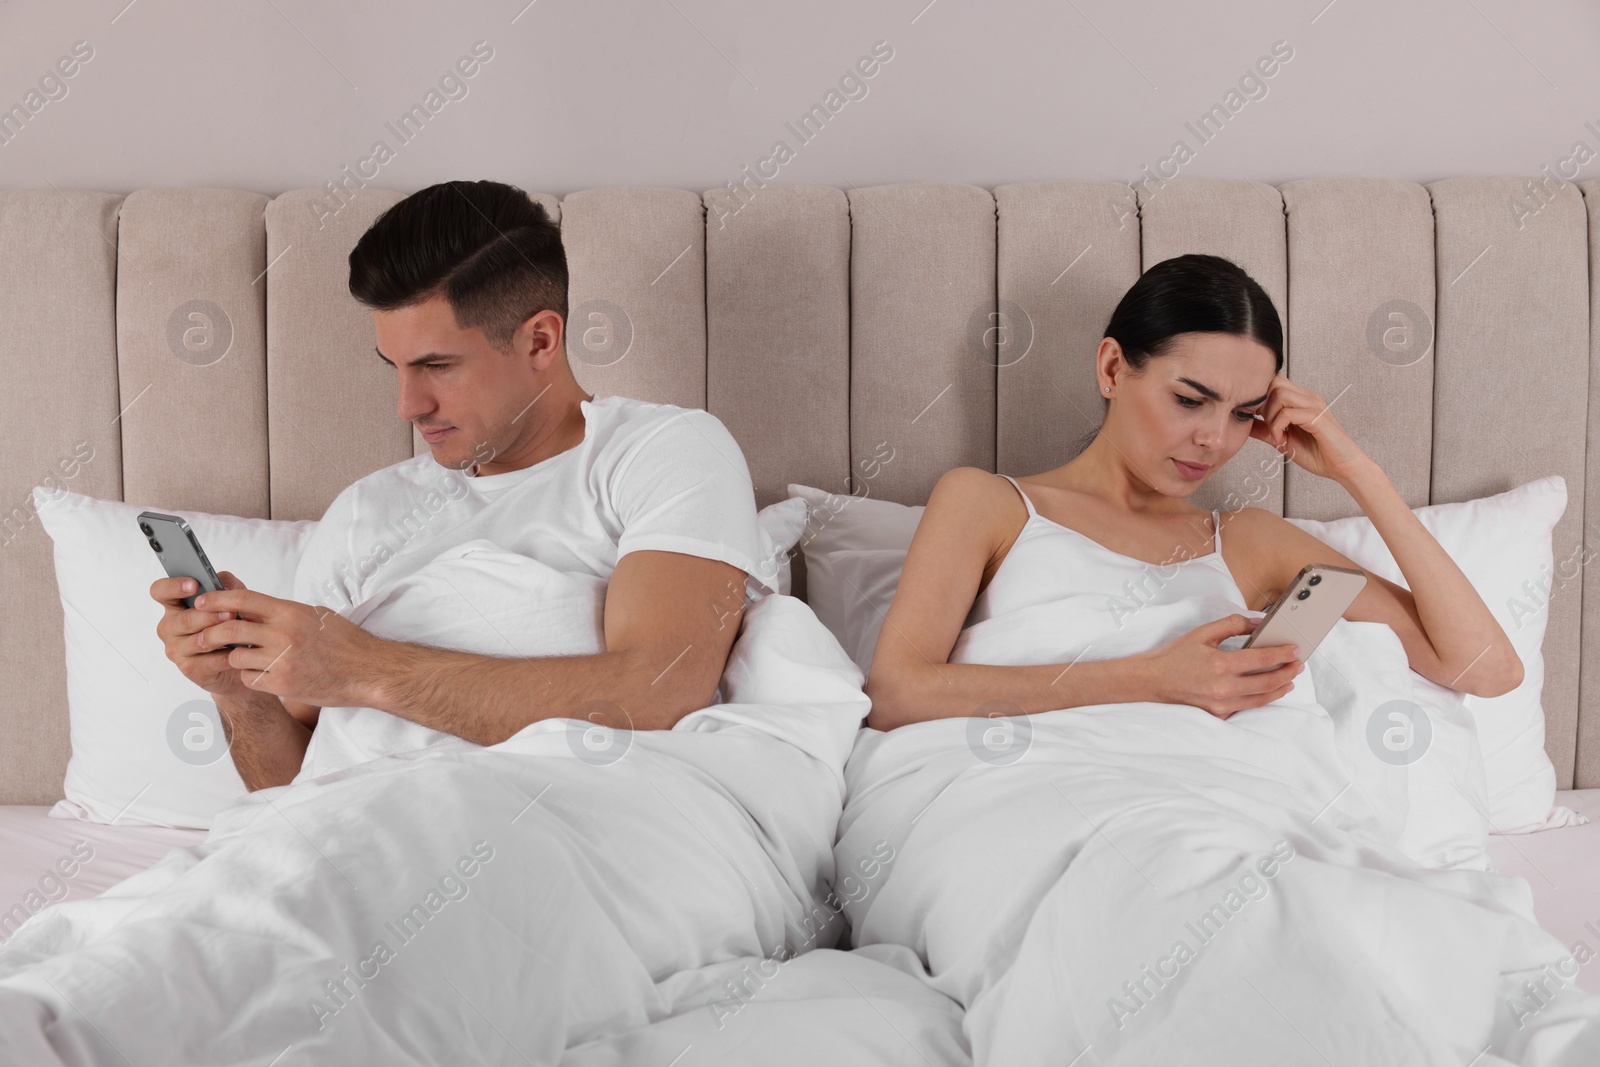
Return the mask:
[[[602,726],[669,729],[709,704],[760,558],[744,456],[706,411],[579,387],[566,256],[544,210],[490,181],[413,194],[350,253],[350,293],[373,309],[398,414],[430,454],[339,494],[293,600],[227,571],[194,608],[190,579],[150,587],[166,656],[216,699],[245,784],[448,736],[491,745],[581,705],[603,709],[587,712]],[[346,617],[469,537],[605,579],[603,651],[496,657]]]

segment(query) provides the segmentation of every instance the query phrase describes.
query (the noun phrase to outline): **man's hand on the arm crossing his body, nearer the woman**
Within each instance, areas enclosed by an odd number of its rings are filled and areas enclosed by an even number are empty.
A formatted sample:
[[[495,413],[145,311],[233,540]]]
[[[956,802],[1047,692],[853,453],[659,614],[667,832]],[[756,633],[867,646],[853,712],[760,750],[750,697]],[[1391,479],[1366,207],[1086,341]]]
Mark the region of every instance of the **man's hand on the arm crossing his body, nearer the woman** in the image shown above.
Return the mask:
[[[250,645],[222,653],[245,689],[314,707],[363,704],[382,641],[339,613],[226,581],[222,592],[198,597],[195,608],[214,621],[187,638],[190,657]]]

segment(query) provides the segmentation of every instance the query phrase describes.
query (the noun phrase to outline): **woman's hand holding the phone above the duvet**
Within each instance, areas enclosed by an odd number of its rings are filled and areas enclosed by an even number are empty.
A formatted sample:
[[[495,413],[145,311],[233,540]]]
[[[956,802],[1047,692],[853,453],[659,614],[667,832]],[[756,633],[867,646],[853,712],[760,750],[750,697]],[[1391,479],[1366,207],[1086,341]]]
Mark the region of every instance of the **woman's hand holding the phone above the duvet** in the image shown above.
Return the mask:
[[[1146,699],[1189,704],[1218,718],[1280,699],[1293,688],[1294,675],[1306,669],[1302,659],[1290,656],[1290,645],[1218,648],[1230,637],[1250,633],[1258,624],[1259,619],[1230,614],[1197,625],[1170,645],[1133,656],[1142,661],[1139,673],[1152,694]],[[1262,667],[1277,670],[1245,673]]]

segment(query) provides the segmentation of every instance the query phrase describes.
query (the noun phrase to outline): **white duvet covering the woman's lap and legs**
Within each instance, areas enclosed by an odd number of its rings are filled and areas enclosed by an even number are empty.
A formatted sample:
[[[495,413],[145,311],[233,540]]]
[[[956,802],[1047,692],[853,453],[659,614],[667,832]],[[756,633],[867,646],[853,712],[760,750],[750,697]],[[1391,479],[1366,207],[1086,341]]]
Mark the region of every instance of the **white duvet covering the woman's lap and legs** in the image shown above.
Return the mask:
[[[1029,649],[1056,633],[1034,609],[957,651],[1048,662]],[[1347,712],[1394,696],[1362,648],[1325,662]],[[1600,997],[1570,985],[1586,960],[1533,921],[1526,881],[1472,848],[1406,856],[1406,782],[1358,766],[1314,696],[1226,721],[1128,702],[864,731],[837,865],[894,859],[846,904],[854,944],[912,949],[968,1009],[979,1067],[1600,1064]]]

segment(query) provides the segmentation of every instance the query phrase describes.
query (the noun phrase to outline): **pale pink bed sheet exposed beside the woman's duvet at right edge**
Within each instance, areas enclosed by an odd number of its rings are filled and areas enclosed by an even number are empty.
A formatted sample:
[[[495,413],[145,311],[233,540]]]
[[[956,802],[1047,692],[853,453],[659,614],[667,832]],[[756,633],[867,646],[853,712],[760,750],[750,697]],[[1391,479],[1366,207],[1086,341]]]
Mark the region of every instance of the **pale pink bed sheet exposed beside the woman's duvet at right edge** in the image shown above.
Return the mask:
[[[1555,934],[1574,960],[1587,960],[1573,979],[1600,993],[1600,789],[1555,793],[1555,803],[1589,816],[1584,825],[1536,833],[1490,833],[1494,870],[1528,880],[1539,926]],[[1582,942],[1587,950],[1578,952]]]

